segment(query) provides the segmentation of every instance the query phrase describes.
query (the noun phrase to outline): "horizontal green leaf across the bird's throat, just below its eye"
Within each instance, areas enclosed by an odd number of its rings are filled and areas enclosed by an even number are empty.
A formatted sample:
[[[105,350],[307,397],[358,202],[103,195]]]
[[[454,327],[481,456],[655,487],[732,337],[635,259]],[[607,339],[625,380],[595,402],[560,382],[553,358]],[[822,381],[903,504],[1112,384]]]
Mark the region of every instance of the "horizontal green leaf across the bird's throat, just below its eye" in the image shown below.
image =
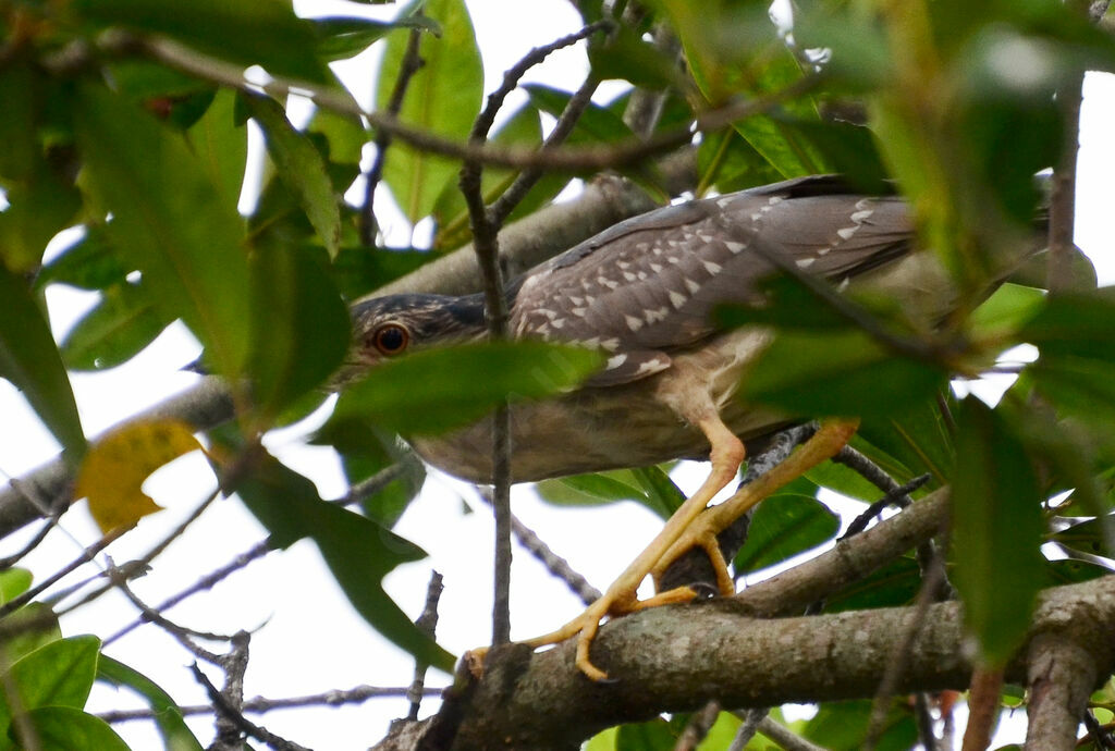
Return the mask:
[[[369,419],[404,435],[475,422],[504,399],[539,399],[580,383],[602,364],[590,350],[544,342],[484,342],[415,352],[348,387],[333,420]]]

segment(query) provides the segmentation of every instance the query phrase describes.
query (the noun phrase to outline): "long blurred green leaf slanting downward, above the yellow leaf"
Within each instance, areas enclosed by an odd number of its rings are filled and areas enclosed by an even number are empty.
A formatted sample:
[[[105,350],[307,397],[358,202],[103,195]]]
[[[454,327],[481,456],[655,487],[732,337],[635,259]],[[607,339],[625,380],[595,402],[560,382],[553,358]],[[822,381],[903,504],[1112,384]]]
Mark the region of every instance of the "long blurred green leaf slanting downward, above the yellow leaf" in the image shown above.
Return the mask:
[[[258,31],[255,32],[258,33]],[[249,345],[248,261],[235,203],[174,131],[85,84],[75,128],[114,245],[143,272],[163,315],[181,316],[219,372],[236,377]]]

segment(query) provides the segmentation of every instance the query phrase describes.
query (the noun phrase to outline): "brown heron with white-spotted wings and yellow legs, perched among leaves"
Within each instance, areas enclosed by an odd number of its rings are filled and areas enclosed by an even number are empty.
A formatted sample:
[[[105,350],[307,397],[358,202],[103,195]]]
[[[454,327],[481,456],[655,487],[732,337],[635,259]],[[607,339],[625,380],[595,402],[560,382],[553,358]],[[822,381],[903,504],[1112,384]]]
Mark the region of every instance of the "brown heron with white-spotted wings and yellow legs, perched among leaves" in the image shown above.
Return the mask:
[[[855,429],[831,422],[779,467],[706,513],[735,478],[743,441],[770,433],[785,417],[734,398],[748,362],[768,342],[762,329],[717,330],[720,303],[763,302],[774,272],[762,246],[803,272],[874,284],[921,320],[950,306],[948,277],[932,254],[911,254],[906,204],[865,196],[834,177],[806,177],[716,198],[667,206],[622,222],[526,272],[507,285],[510,335],[598,348],[607,367],[579,390],[512,407],[513,481],[708,458],[711,471],[650,546],[579,618],[529,642],[580,634],[578,665],[604,673],[589,645],[608,615],[694,597],[688,588],[639,602],[647,574],[660,574],[694,546],[733,579],[716,535],[786,481],[835,453]],[[370,367],[407,350],[485,337],[482,295],[404,294],[353,309],[353,365]],[[430,464],[476,482],[492,477],[491,420],[434,437],[409,437]]]

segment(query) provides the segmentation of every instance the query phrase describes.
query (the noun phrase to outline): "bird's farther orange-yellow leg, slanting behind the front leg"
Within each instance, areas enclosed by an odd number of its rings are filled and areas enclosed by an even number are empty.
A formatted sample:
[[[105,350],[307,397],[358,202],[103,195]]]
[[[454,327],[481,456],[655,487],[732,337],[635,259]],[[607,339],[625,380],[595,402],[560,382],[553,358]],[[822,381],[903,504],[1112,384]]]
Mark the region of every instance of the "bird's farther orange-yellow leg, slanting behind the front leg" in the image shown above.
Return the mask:
[[[859,425],[857,420],[832,420],[822,423],[817,432],[785,461],[739,488],[731,498],[701,514],[655,564],[651,572],[655,581],[657,582],[659,576],[687,550],[699,547],[712,562],[721,594],[733,594],[734,584],[728,574],[727,563],[720,553],[717,535],[778,488],[797,479],[822,461],[831,459],[851,440]]]

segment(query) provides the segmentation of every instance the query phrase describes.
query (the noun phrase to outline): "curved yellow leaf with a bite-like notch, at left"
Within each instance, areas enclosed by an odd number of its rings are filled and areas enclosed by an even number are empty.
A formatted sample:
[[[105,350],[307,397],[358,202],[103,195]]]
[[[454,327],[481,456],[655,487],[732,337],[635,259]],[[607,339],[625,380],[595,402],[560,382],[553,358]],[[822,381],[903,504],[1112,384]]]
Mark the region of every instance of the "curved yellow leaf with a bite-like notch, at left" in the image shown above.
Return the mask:
[[[133,422],[103,436],[78,470],[75,495],[89,499],[103,533],[136,523],[162,509],[143,491],[152,472],[201,449],[190,426],[177,420]]]

